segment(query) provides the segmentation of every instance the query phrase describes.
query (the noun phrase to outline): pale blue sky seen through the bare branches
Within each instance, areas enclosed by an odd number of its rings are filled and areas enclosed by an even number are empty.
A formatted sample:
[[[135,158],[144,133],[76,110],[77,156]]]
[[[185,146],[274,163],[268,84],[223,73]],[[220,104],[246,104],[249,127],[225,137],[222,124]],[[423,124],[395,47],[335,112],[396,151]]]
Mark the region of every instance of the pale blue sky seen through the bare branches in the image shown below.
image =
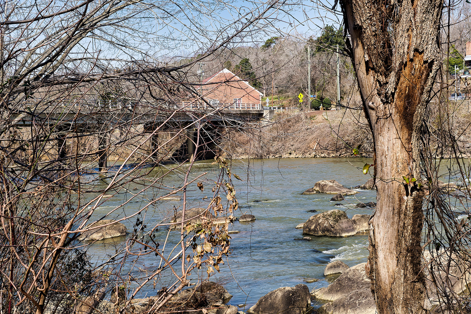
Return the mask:
[[[22,0],[22,8],[10,20],[31,18],[41,10],[42,14],[57,12],[68,8],[81,0],[52,0],[44,9],[32,6],[34,0]],[[136,5],[139,14],[129,8],[120,14],[130,17],[119,24],[107,26],[102,31],[91,33],[81,40],[71,54],[72,57],[89,56],[94,59],[121,59],[113,62],[121,67],[126,60],[165,62],[171,58],[195,56],[218,46],[228,37],[240,31],[247,21],[259,17],[256,23],[245,27],[243,32],[229,40],[227,48],[260,45],[272,36],[292,36],[302,41],[309,36],[318,36],[325,24],[337,24],[339,18],[313,1],[286,0],[283,5],[276,2],[274,8],[266,8],[276,0],[143,0]],[[10,2],[12,3],[12,2]],[[48,2],[49,3],[49,2]],[[91,2],[95,5],[95,2]],[[327,7],[332,5],[327,5]],[[91,7],[90,7],[91,8]],[[78,13],[78,12],[77,12]],[[31,31],[41,29],[38,26],[66,21],[74,23],[76,13],[56,16],[32,23]],[[60,23],[59,23],[60,22]],[[22,27],[25,27],[23,24]],[[45,32],[37,34],[34,40],[39,42],[53,32],[54,27],[45,27]],[[46,33],[48,32],[48,33]],[[105,39],[105,40],[104,40]],[[108,42],[106,42],[108,40]],[[29,42],[32,45],[32,42]],[[93,61],[93,60],[92,60]],[[120,64],[121,63],[121,64]]]

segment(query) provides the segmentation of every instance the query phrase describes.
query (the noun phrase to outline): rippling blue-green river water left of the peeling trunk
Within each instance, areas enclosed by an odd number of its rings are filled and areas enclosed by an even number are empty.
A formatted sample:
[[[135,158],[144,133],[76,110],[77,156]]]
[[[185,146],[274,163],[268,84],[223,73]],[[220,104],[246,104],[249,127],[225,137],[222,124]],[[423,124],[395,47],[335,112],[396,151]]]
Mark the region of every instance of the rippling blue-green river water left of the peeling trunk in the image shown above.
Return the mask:
[[[226,289],[233,295],[229,304],[246,304],[245,308],[248,308],[269,291],[299,283],[307,284],[309,290],[320,288],[335,279],[333,276],[324,276],[325,265],[330,261],[341,260],[349,266],[366,261],[367,235],[346,238],[311,236],[311,241],[294,240],[303,237],[302,229],[295,229],[295,226],[317,213],[342,209],[346,210],[349,217],[355,214],[372,214],[374,209],[355,208],[355,204],[376,201],[374,190],[358,190],[360,193],[346,196],[344,201],[330,201],[333,194],[301,195],[319,180],[335,179],[346,187],[364,184],[370,178],[361,171],[365,162],[372,163],[372,160],[290,158],[232,162],[232,172],[244,179],[234,182],[236,197],[240,203],[240,210],[235,216],[240,217],[246,212],[254,215],[256,220],[250,223],[236,221],[229,226],[229,230],[238,230],[240,233],[231,234],[232,254],[225,261],[225,265],[220,267],[220,273],[211,277],[211,280],[224,282]],[[211,179],[217,175],[218,170],[218,166],[211,165],[211,161],[201,161],[195,163],[192,176],[208,172],[205,177]],[[181,185],[183,176],[183,172],[173,172],[164,178],[163,183],[168,186]],[[132,191],[133,185],[127,188]],[[140,190],[141,186],[138,188]],[[202,206],[202,198],[205,195],[211,196],[211,187],[201,192],[194,185],[189,190],[189,207]],[[150,198],[150,191],[147,193],[147,196],[144,194],[142,197]],[[102,217],[126,197],[129,198],[129,195],[120,194],[110,198],[95,210],[90,221]],[[110,217],[122,217],[142,208],[146,203],[145,199],[133,201]],[[149,208],[146,212],[146,224],[159,222],[174,206],[178,207],[181,203],[182,201],[168,201]],[[335,205],[337,203],[343,205]],[[130,219],[124,221],[124,224],[128,230],[132,230],[134,222],[135,219]],[[168,231],[162,228],[156,233],[155,240],[164,242],[167,233]],[[178,242],[179,232],[171,231],[169,234],[170,243]],[[89,247],[88,252],[92,255],[92,261],[98,261],[106,254],[113,254],[114,245],[109,242],[95,243]],[[150,254],[140,262],[146,269],[153,271],[159,266],[160,258]],[[206,274],[205,271],[203,274]],[[198,274],[191,278],[197,279]],[[313,279],[317,281],[304,282]],[[157,285],[154,290],[152,284],[148,284],[148,287],[139,291],[136,298],[153,296],[159,288]]]

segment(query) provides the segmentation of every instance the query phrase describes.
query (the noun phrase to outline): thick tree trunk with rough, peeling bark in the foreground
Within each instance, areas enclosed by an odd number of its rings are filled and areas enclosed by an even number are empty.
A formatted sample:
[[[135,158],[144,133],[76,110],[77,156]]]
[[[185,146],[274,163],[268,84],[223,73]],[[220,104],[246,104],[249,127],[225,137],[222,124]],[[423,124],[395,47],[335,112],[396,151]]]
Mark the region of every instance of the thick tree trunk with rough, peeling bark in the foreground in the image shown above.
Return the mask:
[[[374,138],[378,199],[367,267],[378,313],[425,313],[419,129],[441,63],[443,1],[340,2]]]

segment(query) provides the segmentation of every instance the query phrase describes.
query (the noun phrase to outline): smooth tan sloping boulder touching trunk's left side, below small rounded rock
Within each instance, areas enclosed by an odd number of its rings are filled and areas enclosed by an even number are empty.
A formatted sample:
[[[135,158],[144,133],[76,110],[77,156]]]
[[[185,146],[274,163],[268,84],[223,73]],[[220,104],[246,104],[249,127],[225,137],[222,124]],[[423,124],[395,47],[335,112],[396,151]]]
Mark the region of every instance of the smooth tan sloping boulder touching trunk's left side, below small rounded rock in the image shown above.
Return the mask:
[[[366,276],[365,266],[366,263],[361,263],[350,267],[327,287],[313,290],[311,296],[320,300],[335,301],[348,296],[352,291],[370,290],[371,281]]]

